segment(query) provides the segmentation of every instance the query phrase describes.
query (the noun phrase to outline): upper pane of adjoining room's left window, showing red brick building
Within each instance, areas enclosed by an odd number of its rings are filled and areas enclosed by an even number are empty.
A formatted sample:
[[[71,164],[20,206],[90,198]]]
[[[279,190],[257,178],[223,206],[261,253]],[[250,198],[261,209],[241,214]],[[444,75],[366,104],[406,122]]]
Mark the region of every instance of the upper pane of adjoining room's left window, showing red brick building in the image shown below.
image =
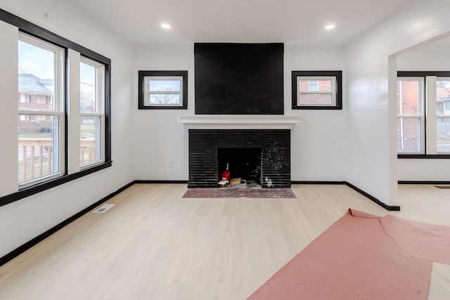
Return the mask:
[[[397,114],[420,115],[420,93],[422,81],[397,81]]]

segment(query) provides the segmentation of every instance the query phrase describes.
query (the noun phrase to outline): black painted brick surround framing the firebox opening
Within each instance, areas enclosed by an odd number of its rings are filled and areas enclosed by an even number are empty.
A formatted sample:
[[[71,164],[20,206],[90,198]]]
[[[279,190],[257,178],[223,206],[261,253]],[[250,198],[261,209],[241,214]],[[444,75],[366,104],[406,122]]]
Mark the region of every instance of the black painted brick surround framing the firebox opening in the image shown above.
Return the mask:
[[[290,129],[189,129],[188,188],[217,188],[219,148],[260,148],[262,188],[290,188]]]

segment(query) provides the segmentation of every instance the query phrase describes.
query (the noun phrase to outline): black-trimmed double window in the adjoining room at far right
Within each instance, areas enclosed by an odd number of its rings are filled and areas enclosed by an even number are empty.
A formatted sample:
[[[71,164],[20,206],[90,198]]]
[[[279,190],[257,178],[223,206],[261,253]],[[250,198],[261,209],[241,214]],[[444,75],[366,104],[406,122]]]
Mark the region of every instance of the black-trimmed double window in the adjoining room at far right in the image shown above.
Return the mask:
[[[397,152],[450,156],[450,72],[398,72]]]

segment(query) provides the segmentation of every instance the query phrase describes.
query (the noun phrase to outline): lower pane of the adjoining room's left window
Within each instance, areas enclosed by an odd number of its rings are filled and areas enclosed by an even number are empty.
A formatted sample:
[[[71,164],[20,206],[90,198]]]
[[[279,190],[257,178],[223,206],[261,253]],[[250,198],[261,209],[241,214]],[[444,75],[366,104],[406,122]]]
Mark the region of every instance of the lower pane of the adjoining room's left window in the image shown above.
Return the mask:
[[[397,119],[397,151],[420,152],[420,119]]]

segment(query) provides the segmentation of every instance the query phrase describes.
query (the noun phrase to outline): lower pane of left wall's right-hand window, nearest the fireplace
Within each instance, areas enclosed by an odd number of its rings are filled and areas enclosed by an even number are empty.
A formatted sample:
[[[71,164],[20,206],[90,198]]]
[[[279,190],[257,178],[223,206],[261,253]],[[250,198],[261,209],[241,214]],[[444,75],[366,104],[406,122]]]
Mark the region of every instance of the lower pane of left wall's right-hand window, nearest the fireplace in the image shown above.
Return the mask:
[[[101,117],[82,116],[79,125],[79,164],[101,160]]]

